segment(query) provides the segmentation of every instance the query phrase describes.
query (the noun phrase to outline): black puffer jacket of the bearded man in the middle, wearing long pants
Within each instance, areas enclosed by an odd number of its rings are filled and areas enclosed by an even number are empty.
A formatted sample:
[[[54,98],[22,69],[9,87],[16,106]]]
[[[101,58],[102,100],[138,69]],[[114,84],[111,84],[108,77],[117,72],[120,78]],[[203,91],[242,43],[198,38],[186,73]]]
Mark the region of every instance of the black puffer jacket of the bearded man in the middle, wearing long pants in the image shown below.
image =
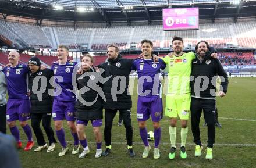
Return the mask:
[[[99,65],[99,68],[104,69],[102,77],[109,78],[103,84],[103,91],[106,96],[106,102],[103,101],[103,107],[105,109],[130,109],[131,108],[131,96],[128,92],[130,69],[133,63],[133,59],[123,59],[119,54],[114,60],[108,60],[108,62]],[[125,80],[122,80],[124,84],[121,85],[121,80],[118,80],[118,76],[122,76]],[[113,85],[113,86],[112,86]],[[113,88],[112,88],[113,87]],[[121,94],[115,94],[111,88],[115,91],[123,91]],[[115,98],[116,95],[116,98]]]

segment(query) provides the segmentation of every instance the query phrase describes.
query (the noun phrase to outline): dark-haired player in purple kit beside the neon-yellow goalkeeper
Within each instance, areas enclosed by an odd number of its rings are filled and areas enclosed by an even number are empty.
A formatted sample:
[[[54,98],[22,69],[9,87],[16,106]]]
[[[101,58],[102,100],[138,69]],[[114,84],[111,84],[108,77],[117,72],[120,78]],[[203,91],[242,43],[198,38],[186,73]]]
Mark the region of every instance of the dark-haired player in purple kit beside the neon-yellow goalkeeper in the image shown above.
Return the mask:
[[[146,121],[151,116],[155,138],[154,159],[158,159],[160,157],[158,145],[161,139],[160,120],[163,116],[159,77],[160,69],[165,69],[166,64],[161,59],[158,62],[154,62],[152,59],[152,47],[153,43],[150,40],[141,41],[143,59],[134,60],[131,70],[137,70],[138,73],[137,120],[140,128],[140,137],[145,145],[142,157],[147,158],[150,151]]]

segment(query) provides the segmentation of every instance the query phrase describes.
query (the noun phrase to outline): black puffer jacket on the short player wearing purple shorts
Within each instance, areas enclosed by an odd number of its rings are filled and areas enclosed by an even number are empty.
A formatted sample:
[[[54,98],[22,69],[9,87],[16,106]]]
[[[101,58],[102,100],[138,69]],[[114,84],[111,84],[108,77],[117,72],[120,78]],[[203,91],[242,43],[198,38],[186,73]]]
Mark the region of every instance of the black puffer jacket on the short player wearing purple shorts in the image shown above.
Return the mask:
[[[86,76],[83,76],[84,73]],[[76,117],[79,120],[102,119],[102,98],[97,92],[101,88],[98,82],[101,80],[100,73],[90,69],[83,74],[76,76],[77,89],[80,92],[76,101]],[[88,88],[88,91],[85,88]]]

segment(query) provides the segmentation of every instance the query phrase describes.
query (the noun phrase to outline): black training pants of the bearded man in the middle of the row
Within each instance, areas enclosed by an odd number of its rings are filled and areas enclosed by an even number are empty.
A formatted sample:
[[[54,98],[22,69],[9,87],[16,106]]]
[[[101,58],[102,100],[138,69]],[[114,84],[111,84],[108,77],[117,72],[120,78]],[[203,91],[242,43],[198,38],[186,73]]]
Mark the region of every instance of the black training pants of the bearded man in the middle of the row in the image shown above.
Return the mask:
[[[105,128],[104,128],[104,139],[106,146],[111,145],[111,129],[113,119],[118,110],[105,109]],[[133,127],[131,126],[131,110],[130,109],[119,109],[121,118],[123,119],[123,124],[126,129],[126,140],[127,145],[133,145]]]

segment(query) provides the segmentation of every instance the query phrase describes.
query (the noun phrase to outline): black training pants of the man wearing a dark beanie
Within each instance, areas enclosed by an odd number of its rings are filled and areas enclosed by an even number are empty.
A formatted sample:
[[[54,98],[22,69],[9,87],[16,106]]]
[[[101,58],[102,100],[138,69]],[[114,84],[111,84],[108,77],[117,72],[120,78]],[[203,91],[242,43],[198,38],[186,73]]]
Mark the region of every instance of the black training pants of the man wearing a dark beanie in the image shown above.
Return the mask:
[[[52,115],[49,115],[49,114],[31,113],[31,124],[32,124],[33,131],[35,133],[35,137],[37,137],[38,146],[43,146],[46,144],[44,140],[44,134],[42,134],[42,130],[40,128],[41,120],[42,120],[42,127],[44,127],[45,133],[47,134],[47,137],[49,140],[49,145],[57,142],[54,138],[54,131],[52,130],[52,127],[51,127]]]

